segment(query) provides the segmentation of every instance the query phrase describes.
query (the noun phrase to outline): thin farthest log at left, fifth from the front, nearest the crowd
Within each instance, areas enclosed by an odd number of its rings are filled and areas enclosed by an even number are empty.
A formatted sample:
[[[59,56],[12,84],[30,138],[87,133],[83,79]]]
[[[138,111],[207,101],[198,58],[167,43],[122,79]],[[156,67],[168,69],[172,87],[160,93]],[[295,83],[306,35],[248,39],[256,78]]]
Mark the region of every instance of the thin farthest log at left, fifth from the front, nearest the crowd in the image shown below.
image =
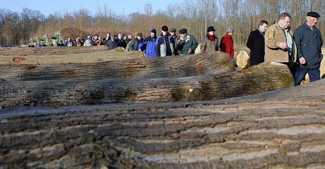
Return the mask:
[[[57,46],[57,47],[35,47],[35,48],[0,48],[0,56],[28,56],[28,55],[61,55],[72,53],[91,53],[107,51],[109,48],[102,46]]]

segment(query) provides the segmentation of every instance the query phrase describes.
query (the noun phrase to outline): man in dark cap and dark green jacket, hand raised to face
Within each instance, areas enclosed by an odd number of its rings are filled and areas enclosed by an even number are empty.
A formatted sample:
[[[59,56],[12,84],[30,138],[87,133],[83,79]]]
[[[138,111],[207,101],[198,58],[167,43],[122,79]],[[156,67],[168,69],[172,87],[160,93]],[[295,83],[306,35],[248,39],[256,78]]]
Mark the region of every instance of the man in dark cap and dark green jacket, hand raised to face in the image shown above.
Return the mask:
[[[187,33],[187,29],[182,28],[178,31],[180,37],[176,39],[175,48],[178,49],[179,55],[193,54],[198,47],[197,40]]]

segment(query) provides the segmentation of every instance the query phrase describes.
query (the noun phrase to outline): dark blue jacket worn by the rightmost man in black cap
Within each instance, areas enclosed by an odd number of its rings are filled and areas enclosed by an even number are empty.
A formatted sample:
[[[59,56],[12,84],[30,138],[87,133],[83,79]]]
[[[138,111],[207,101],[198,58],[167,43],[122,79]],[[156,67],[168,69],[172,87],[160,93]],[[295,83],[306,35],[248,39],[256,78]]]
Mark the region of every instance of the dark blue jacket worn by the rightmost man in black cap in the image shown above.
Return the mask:
[[[314,27],[314,31],[312,31],[307,23],[304,23],[296,29],[294,39],[297,44],[298,58],[306,59],[306,64],[299,63],[299,66],[306,69],[319,69],[323,58],[321,54],[323,41],[319,29]],[[299,59],[297,59],[298,61]]]

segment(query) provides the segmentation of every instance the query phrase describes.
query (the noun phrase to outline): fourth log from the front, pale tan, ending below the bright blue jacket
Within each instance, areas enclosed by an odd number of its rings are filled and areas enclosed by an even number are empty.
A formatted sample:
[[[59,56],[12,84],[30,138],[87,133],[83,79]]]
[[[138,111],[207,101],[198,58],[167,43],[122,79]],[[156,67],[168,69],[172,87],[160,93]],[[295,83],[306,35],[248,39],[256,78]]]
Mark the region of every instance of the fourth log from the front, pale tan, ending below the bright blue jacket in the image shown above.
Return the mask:
[[[130,58],[144,58],[143,52],[124,52],[121,47],[113,50],[64,54],[64,55],[29,55],[29,56],[0,56],[1,64],[60,64],[60,63],[96,63],[103,61],[123,60]]]

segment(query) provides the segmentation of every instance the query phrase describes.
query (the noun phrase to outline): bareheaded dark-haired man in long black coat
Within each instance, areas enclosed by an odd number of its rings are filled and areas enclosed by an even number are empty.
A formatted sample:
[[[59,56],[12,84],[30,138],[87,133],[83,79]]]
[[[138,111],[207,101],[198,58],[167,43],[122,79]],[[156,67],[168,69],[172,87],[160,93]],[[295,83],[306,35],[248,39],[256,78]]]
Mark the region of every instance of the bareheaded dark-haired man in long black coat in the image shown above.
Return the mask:
[[[246,46],[250,50],[248,67],[264,62],[264,55],[265,55],[264,36],[265,36],[265,30],[267,28],[268,28],[268,22],[265,20],[261,20],[261,22],[259,22],[258,24],[258,28],[249,33],[249,37],[246,43]]]

